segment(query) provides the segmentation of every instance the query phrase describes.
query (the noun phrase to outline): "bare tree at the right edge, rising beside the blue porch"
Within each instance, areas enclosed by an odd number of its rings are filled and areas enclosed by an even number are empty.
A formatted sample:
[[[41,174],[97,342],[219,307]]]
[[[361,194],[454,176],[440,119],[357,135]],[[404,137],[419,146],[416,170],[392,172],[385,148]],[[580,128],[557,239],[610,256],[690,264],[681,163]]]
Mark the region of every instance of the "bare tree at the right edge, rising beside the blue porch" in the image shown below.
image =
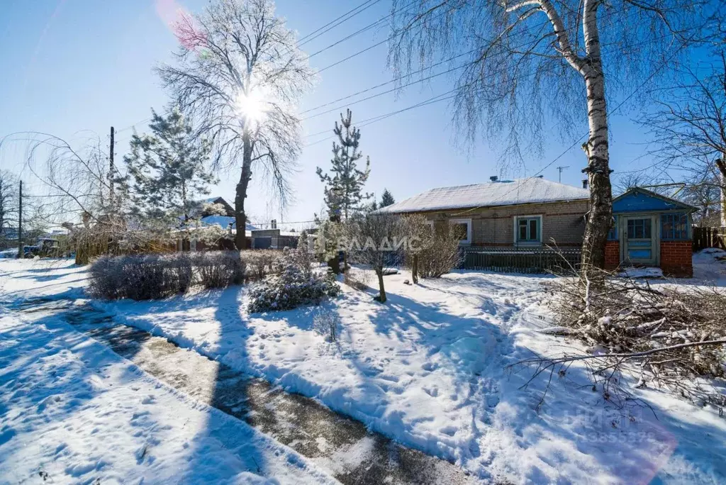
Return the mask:
[[[666,167],[688,172],[701,195],[718,189],[726,204],[726,52],[717,58],[710,68],[684,70],[679,83],[653,91],[660,109],[643,121],[656,135]]]

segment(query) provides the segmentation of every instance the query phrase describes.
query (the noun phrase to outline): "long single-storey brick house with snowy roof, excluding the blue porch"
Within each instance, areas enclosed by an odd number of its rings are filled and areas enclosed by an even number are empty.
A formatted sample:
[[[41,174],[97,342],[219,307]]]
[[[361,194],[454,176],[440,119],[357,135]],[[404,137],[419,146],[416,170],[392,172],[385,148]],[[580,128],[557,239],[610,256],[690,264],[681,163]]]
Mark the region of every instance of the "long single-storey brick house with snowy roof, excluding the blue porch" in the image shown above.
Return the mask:
[[[587,189],[539,177],[431,189],[378,209],[378,213],[423,213],[431,224],[462,228],[467,247],[539,248],[582,245]]]

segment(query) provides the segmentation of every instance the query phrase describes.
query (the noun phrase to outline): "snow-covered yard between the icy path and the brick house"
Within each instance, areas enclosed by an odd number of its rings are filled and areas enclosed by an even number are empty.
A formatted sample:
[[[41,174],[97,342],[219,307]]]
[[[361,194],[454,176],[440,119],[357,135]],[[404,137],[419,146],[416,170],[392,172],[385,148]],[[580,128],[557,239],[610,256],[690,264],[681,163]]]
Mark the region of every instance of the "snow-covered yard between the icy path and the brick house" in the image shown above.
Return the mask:
[[[713,255],[703,260],[697,275],[707,268],[719,277],[726,267]],[[3,261],[0,269],[12,272],[13,264],[28,271],[11,274],[6,291],[33,287],[25,278],[40,264]],[[36,293],[75,294],[83,285],[83,273],[70,264],[38,277],[46,280],[36,282]],[[645,390],[640,397],[657,418],[644,408],[624,414],[584,385],[578,367],[555,376],[541,402],[548,376],[523,387],[531,370],[505,371],[529,356],[579,347],[537,331],[557,325],[542,304],[546,277],[460,272],[417,286],[404,285],[408,278],[386,277],[385,305],[347,286],[321,307],[275,314],[248,314],[245,288],[94,305],[119,322],[319,399],[484,480],[726,481],[726,421],[712,409]],[[339,319],[337,343],[314,331],[319,312]]]

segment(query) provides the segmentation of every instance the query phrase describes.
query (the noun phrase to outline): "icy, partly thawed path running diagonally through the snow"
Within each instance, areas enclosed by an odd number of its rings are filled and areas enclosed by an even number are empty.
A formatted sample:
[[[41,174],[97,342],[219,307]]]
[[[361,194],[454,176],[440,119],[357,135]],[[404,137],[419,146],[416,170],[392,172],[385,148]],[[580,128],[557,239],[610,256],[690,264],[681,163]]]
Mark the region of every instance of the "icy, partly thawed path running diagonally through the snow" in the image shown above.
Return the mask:
[[[343,484],[465,484],[454,465],[370,433],[312,399],[287,394],[250,379],[165,338],[113,322],[112,317],[69,301],[23,303],[25,311],[50,309],[76,330],[106,343],[117,354],[196,402],[245,420],[305,457]],[[64,311],[65,308],[69,308]]]

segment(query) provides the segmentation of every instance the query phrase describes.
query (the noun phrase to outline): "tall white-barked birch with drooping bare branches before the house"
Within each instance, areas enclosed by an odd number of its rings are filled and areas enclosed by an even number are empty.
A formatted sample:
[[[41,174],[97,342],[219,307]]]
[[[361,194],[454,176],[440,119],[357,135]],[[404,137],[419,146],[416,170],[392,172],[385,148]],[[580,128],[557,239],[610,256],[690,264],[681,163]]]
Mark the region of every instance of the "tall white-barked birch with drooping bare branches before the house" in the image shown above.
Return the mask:
[[[648,81],[677,60],[705,2],[697,0],[393,1],[389,63],[411,73],[449,60],[462,68],[454,121],[476,135],[502,136],[505,155],[541,146],[547,118],[560,132],[582,126],[590,212],[582,266],[602,267],[612,221],[608,97]],[[605,42],[603,42],[605,38]],[[677,45],[672,45],[675,40]],[[454,57],[452,57],[452,54]],[[464,65],[455,60],[468,57]],[[442,59],[444,61],[442,61]],[[605,90],[607,64],[608,91]],[[617,76],[623,76],[618,79]],[[613,89],[614,88],[614,89]],[[636,89],[637,91],[637,89]],[[633,91],[635,92],[635,91]],[[628,94],[628,99],[632,93]],[[521,142],[529,139],[529,144]]]

